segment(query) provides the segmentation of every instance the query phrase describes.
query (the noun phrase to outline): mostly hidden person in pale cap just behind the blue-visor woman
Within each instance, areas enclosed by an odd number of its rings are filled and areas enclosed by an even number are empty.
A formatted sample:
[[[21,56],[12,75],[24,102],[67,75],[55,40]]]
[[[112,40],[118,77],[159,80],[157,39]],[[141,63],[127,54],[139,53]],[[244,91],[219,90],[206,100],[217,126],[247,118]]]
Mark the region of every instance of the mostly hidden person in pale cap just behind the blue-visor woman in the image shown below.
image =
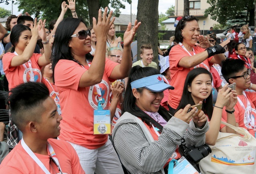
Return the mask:
[[[162,78],[164,79],[164,82],[166,84],[170,84],[171,77],[170,77],[170,64],[169,64],[169,56],[166,56],[159,61],[160,66],[160,73],[162,75]],[[168,97],[169,97],[169,89],[164,90],[164,98],[161,101],[161,106],[164,106],[165,109],[169,110],[168,108]]]

